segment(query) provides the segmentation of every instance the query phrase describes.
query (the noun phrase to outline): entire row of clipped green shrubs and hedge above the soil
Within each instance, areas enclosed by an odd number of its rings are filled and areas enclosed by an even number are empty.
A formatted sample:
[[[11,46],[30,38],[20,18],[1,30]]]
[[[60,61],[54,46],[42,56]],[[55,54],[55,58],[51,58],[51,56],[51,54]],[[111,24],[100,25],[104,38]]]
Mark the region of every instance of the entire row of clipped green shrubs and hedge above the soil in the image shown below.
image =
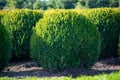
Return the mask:
[[[0,11],[0,70],[34,60],[50,71],[120,55],[120,8]]]

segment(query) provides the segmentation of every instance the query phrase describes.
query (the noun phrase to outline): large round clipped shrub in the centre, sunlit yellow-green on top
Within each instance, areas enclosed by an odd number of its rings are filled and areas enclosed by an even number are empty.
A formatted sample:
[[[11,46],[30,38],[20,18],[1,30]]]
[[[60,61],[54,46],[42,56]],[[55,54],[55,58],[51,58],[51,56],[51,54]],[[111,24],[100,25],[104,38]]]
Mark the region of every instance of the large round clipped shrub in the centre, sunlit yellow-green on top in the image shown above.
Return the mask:
[[[31,57],[47,70],[90,67],[99,55],[97,28],[84,16],[67,10],[47,11],[31,37]]]

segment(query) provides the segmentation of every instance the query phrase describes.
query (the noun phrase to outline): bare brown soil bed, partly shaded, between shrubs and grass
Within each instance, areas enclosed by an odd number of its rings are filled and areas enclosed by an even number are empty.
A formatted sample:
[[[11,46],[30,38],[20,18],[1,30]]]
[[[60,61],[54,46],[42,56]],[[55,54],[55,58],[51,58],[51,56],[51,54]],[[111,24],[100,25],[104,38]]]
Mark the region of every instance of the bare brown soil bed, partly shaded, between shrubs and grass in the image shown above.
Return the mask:
[[[6,67],[0,76],[2,77],[63,77],[63,76],[82,76],[82,75],[98,75],[102,73],[110,74],[120,70],[120,59],[111,58],[106,60],[98,61],[92,68],[77,68],[71,70],[63,70],[59,72],[46,71],[42,67],[38,67],[35,62],[24,61],[24,62],[13,62],[8,67]]]

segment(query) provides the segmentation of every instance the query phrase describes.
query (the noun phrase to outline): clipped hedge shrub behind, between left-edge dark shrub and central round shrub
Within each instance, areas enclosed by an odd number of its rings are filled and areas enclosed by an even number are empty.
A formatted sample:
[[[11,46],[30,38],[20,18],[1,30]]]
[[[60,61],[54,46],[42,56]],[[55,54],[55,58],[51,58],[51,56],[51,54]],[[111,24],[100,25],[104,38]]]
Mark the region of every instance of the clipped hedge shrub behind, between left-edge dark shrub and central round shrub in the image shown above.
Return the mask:
[[[42,15],[42,11],[12,10],[2,19],[2,23],[11,34],[13,42],[13,59],[29,58],[32,27],[35,26]]]

